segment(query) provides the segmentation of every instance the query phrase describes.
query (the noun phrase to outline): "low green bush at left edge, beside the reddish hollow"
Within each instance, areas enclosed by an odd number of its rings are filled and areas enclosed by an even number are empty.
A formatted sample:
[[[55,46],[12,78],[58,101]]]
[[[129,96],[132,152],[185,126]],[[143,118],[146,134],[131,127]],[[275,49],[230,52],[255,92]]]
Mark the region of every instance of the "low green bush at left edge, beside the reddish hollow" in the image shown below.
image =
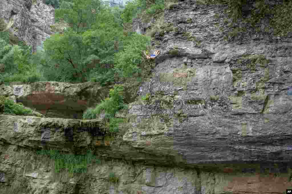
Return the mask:
[[[4,114],[27,115],[32,113],[31,109],[25,108],[21,103],[14,103],[13,100],[0,96],[0,105],[4,105]]]

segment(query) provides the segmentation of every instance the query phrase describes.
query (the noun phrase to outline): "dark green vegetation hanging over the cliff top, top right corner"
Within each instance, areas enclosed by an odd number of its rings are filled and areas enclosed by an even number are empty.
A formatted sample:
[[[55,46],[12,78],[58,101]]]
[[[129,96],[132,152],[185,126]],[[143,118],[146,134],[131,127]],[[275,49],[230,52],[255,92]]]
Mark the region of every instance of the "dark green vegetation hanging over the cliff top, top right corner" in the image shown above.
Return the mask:
[[[265,31],[270,32],[267,28],[274,31],[274,35],[286,36],[292,31],[292,2],[288,0],[275,2],[275,5],[270,5],[265,0],[257,0],[251,3],[247,0],[199,0],[203,4],[226,4],[225,13],[232,19],[232,22],[238,22],[240,19],[245,26],[243,28],[253,27],[254,31],[261,32],[260,27],[264,22],[263,19],[268,19],[269,24]],[[230,27],[233,26],[230,23]],[[241,27],[241,28],[242,28]],[[231,32],[230,35],[246,33],[246,29],[237,29]],[[231,37],[232,38],[232,37]]]

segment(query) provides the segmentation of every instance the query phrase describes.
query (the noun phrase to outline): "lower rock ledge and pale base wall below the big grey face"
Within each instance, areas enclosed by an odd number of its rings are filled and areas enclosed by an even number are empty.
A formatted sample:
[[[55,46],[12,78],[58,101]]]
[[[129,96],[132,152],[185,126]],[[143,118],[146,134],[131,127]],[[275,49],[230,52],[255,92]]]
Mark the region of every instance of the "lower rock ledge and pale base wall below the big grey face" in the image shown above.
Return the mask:
[[[50,194],[260,194],[283,193],[283,188],[292,186],[288,163],[232,163],[209,168],[205,163],[182,168],[183,165],[166,164],[167,153],[156,157],[155,150],[159,148],[154,148],[151,141],[146,145],[148,149],[142,149],[148,150],[148,154],[143,153],[107,136],[101,124],[99,120],[0,115],[0,184],[8,186],[17,176],[29,193]],[[88,146],[102,162],[89,163],[86,175],[73,177],[55,172],[54,160],[34,151],[51,148],[65,151],[63,154],[85,154]],[[110,159],[114,157],[118,159]],[[150,164],[153,162],[156,165]],[[111,173],[118,182],[109,181]]]

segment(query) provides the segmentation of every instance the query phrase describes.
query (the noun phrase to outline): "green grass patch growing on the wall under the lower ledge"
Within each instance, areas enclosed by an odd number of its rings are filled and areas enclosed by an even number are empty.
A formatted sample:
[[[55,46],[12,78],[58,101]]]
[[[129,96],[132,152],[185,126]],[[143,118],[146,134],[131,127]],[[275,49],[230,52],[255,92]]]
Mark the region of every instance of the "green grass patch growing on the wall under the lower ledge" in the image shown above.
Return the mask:
[[[88,150],[85,155],[75,155],[75,154],[65,154],[58,150],[39,150],[37,154],[49,156],[55,162],[55,172],[60,172],[62,170],[68,170],[70,173],[81,173],[87,172],[89,165],[93,163],[100,164],[100,160]]]

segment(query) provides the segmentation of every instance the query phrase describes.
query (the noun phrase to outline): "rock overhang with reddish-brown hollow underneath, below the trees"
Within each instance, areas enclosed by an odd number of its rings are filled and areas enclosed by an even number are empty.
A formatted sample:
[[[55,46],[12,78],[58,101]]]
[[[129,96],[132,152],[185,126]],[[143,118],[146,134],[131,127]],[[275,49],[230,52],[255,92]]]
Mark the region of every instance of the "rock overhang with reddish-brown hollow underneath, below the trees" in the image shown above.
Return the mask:
[[[111,87],[96,83],[36,82],[29,85],[1,85],[1,95],[35,108],[46,117],[81,119],[83,111],[107,97]]]

